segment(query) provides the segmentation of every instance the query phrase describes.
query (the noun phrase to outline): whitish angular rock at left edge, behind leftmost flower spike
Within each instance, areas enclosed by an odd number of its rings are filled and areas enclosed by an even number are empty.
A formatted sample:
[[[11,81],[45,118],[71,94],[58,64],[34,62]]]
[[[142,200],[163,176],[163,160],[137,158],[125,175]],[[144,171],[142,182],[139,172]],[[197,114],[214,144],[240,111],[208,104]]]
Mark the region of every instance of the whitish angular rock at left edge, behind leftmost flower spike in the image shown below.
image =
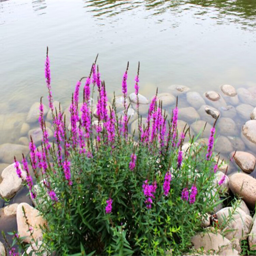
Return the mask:
[[[22,170],[23,180],[26,179],[26,172]],[[0,176],[0,195],[5,199],[12,198],[16,192],[22,187],[22,179],[16,173],[14,163],[6,167]]]

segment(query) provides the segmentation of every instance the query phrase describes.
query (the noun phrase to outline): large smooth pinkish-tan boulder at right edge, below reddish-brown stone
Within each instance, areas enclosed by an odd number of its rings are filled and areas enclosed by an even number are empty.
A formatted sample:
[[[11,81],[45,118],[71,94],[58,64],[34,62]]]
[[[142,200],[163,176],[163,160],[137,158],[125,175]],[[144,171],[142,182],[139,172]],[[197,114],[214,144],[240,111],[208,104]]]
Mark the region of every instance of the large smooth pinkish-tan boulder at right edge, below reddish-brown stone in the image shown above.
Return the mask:
[[[234,195],[242,197],[249,209],[255,208],[256,179],[245,173],[234,173],[229,176],[229,188]]]

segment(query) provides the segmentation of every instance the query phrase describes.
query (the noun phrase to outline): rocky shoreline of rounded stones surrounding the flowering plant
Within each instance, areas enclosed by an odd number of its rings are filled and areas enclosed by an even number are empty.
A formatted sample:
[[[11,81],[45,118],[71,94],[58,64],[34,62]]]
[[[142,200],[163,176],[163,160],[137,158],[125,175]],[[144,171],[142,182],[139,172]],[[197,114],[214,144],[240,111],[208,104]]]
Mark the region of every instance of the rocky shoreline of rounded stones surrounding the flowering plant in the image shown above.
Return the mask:
[[[195,249],[203,246],[205,251],[213,250],[213,252],[216,252],[219,250],[219,246],[222,246],[219,255],[238,255],[238,252],[241,251],[241,240],[248,237],[249,246],[253,250],[252,246],[256,245],[256,224],[254,224],[256,217],[251,216],[256,203],[256,179],[254,179],[256,165],[256,88],[238,88],[236,90],[231,85],[222,85],[218,92],[208,91],[202,95],[181,85],[169,86],[167,90],[167,93],[158,94],[158,100],[162,101],[162,107],[166,110],[167,117],[170,119],[172,108],[176,104],[176,96],[178,96],[179,120],[177,130],[179,133],[183,131],[185,126],[190,127],[190,137],[200,134],[197,143],[208,143],[212,125],[218,119],[215,151],[220,152],[221,161],[219,161],[220,164],[216,173],[216,184],[222,179],[227,169],[228,159],[232,159],[228,166],[228,179],[222,184],[221,191],[224,196],[231,193],[243,199],[239,204],[240,208],[234,214],[234,218],[230,219],[224,226],[222,224],[228,218],[227,216],[232,208],[221,209],[221,205],[218,205],[215,213],[222,229],[219,230],[219,233],[212,233],[210,236],[198,234],[192,238]],[[129,99],[129,132],[133,134],[134,131],[135,136],[138,136],[136,95],[134,93],[130,94]],[[118,116],[124,115],[123,102],[123,96],[116,97]],[[145,116],[147,115],[149,102],[149,99],[139,95],[142,125],[146,124]],[[98,122],[96,119],[96,104],[94,100],[91,103],[95,117],[94,122]],[[14,198],[23,189],[22,180],[17,176],[14,168],[13,156],[16,156],[17,161],[21,161],[22,153],[25,156],[28,155],[30,137],[40,150],[42,131],[38,125],[39,104],[39,102],[35,102],[28,113],[0,115],[0,119],[2,118],[5,122],[6,130],[10,130],[11,135],[14,134],[13,137],[10,136],[12,143],[0,145],[0,196],[4,199]],[[111,103],[108,104],[111,105]],[[54,102],[54,107],[63,111],[58,101]],[[63,112],[66,115],[66,125],[68,127],[70,120],[69,108],[66,108]],[[51,111],[48,111],[46,106],[44,106],[44,115],[47,120],[46,127],[49,139],[51,140],[54,131],[51,122],[52,116]],[[188,140],[189,136],[187,134],[185,141]],[[183,145],[184,153],[189,146],[188,142]],[[239,170],[240,172],[238,172]],[[25,173],[23,175],[25,176]],[[31,175],[33,174],[31,173]],[[36,217],[38,213],[36,214],[35,211],[37,210],[32,207],[32,201],[29,197],[24,197],[19,203],[12,200],[10,204],[5,204],[3,200],[0,201],[0,220],[1,223],[5,223],[4,230],[8,230],[9,222],[9,227],[17,227],[19,233],[26,234],[27,227],[24,225],[23,214],[20,211],[22,206],[26,207],[26,211],[31,214],[34,229],[38,232],[37,238],[40,240],[42,234],[38,227],[43,220]],[[202,222],[202,225],[211,231],[210,216],[209,219]],[[11,219],[12,221],[10,221]],[[234,230],[227,231],[230,228]],[[224,240],[222,234],[224,234]],[[0,254],[5,250],[3,248],[0,243]],[[233,250],[232,253],[230,253],[230,250]]]

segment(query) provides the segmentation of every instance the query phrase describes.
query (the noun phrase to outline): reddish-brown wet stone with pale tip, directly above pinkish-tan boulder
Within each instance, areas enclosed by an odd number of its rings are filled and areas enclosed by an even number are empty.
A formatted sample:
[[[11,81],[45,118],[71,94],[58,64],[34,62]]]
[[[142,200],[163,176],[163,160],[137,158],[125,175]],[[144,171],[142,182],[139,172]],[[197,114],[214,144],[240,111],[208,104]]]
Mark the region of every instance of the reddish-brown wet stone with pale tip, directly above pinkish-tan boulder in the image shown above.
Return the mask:
[[[233,156],[237,165],[246,173],[253,172],[256,164],[255,156],[244,151],[237,151],[235,155],[234,153],[235,152],[231,152],[230,157]]]

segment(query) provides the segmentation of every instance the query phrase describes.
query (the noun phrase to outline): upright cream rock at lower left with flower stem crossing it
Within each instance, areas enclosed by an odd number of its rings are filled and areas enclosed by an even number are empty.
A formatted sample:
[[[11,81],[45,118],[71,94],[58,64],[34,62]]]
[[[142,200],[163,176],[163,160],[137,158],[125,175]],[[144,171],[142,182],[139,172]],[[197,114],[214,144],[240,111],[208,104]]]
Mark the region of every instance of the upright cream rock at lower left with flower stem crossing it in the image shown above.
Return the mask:
[[[34,242],[32,237],[30,236],[30,232],[28,230],[28,226],[26,224],[26,219],[24,217],[24,213],[22,208],[24,207],[26,217],[28,219],[28,223],[33,229],[33,238],[35,241],[41,241],[43,238],[42,230],[39,226],[46,225],[46,221],[40,215],[40,212],[33,207],[31,207],[27,203],[20,203],[17,207],[17,226],[18,233],[20,237],[26,237],[23,241],[25,243]]]

